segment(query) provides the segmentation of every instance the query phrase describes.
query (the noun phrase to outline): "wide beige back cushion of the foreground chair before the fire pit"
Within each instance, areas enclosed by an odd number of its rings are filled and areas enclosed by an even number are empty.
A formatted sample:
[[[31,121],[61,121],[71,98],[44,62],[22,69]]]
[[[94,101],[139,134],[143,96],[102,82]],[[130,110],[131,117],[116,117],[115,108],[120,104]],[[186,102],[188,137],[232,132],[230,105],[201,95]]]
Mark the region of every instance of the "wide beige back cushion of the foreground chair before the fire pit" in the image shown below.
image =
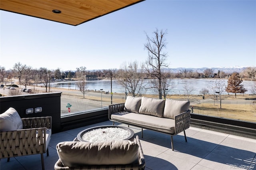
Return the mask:
[[[130,140],[60,142],[56,146],[64,166],[138,164],[138,144]]]

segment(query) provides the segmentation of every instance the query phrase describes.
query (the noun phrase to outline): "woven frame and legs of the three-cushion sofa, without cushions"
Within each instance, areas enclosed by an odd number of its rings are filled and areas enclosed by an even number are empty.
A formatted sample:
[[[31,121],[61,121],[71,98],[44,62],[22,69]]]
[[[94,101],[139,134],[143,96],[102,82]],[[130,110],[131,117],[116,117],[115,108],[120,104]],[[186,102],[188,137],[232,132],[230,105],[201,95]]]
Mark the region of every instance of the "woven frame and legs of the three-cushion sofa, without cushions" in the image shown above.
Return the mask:
[[[110,121],[113,121],[113,125],[115,122],[118,122],[118,123],[125,123],[127,124],[128,126],[129,125],[132,125],[132,126],[135,126],[135,127],[139,127],[141,128],[141,132],[142,132],[142,138],[143,138],[143,128],[146,128],[146,129],[149,129],[147,127],[143,127],[143,125],[137,125],[135,123],[130,123],[129,121],[115,121],[113,119],[111,119],[111,115],[114,114],[114,113],[118,113],[118,112],[124,112],[124,103],[119,103],[119,104],[116,104],[116,105],[110,105],[108,107],[108,119]],[[149,129],[149,130],[154,130],[156,132],[161,132],[161,133],[164,133],[164,134],[169,134],[171,136],[171,146],[172,146],[172,150],[174,150],[174,147],[173,147],[173,138],[172,136],[175,136],[177,134],[179,134],[180,132],[184,132],[184,137],[185,137],[185,140],[187,142],[187,137],[186,137],[186,132],[185,130],[188,129],[190,127],[190,110],[184,112],[184,113],[180,113],[179,115],[176,115],[175,118],[174,118],[174,121],[175,121],[175,132],[174,133],[167,133],[167,132],[162,132],[162,131],[159,131],[159,130],[155,130],[155,129]],[[166,118],[166,119],[169,119],[169,118]]]

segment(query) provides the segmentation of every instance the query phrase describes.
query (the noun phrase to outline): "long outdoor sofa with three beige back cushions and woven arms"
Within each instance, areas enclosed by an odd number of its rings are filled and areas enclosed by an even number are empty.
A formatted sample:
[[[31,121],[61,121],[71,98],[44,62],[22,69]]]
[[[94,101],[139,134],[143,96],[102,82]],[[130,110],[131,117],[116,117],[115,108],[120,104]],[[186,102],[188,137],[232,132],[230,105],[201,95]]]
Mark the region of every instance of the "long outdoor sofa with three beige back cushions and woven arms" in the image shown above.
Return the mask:
[[[130,97],[125,103],[110,105],[108,118],[110,121],[133,125],[149,130],[155,130],[172,136],[184,132],[190,127],[189,101],[177,101],[172,99],[151,99],[148,97]]]

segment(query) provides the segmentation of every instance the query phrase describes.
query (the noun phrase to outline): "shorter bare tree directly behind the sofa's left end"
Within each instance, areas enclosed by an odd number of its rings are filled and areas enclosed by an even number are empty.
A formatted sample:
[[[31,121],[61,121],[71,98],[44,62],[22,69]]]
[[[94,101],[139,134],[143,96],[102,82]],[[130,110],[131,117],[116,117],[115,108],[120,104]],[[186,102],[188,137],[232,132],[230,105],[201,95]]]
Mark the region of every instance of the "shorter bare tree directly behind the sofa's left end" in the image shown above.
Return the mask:
[[[138,61],[124,62],[118,71],[118,82],[125,87],[133,97],[140,95],[144,90],[144,65]],[[127,92],[125,91],[126,95]]]

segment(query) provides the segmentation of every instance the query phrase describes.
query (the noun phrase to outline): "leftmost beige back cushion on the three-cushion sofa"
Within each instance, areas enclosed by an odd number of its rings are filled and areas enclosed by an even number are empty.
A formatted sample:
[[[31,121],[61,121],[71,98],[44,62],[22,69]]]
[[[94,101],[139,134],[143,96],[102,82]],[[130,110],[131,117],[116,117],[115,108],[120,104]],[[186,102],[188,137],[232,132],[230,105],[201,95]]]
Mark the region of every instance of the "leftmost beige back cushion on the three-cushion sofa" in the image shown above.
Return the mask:
[[[124,103],[124,111],[139,113],[141,97],[128,96]]]

